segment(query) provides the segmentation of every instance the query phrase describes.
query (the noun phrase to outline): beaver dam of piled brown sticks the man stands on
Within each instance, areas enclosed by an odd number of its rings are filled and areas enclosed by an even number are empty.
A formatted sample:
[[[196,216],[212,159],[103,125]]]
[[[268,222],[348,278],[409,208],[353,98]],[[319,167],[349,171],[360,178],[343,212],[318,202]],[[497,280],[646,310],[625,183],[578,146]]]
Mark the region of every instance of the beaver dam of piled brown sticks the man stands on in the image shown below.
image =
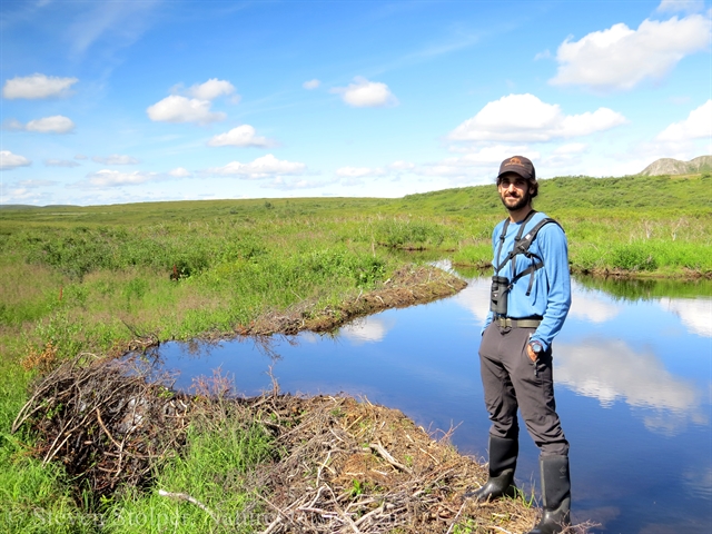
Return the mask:
[[[452,283],[443,287],[456,290]],[[277,323],[283,332],[324,327],[327,315],[342,322],[362,306],[402,305],[409,300],[403,295],[417,298],[421,290],[386,287],[359,295],[350,314],[323,314],[309,325],[291,313]],[[432,299],[433,291],[423,296]],[[263,334],[267,324],[249,328]],[[156,372],[150,350],[83,355],[56,366],[18,414],[12,432],[20,428],[36,436],[33,454],[63,465],[98,532],[113,532],[105,521],[121,518],[111,503],[126,495],[152,495],[176,517],[199,514],[197,532],[515,533],[528,532],[540,513],[532,495],[479,504],[464,498],[487,471],[455,449],[452,431],[428,432],[365,397],[281,394],[274,379],[254,397],[237,395],[219,373],[196,379],[191,394],[178,392],[174,377]],[[239,463],[224,462],[228,448],[215,453],[208,464],[219,467],[197,485],[168,483],[162,474],[187,462],[202,435],[263,446]],[[175,531],[169,525],[167,532]],[[575,532],[587,532],[586,525]]]

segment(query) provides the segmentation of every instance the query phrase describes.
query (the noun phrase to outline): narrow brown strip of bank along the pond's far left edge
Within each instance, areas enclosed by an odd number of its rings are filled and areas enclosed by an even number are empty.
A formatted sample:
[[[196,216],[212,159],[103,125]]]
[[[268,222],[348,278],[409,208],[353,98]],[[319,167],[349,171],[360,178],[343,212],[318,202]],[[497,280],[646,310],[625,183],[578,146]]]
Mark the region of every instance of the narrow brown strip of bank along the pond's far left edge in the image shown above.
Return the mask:
[[[240,336],[294,335],[303,330],[329,332],[357,317],[388,308],[412,306],[448,297],[464,289],[467,283],[431,266],[407,266],[397,270],[379,287],[346,299],[338,307],[314,309],[303,301],[285,312],[265,314],[249,325],[238,325]]]

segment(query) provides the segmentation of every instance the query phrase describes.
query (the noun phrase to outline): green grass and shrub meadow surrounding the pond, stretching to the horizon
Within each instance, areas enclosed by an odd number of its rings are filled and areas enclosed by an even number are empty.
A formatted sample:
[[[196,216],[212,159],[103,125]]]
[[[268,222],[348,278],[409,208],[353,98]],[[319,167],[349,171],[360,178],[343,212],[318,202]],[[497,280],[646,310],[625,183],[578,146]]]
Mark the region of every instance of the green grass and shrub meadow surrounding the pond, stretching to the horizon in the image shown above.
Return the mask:
[[[709,174],[554,178],[542,180],[535,205],[566,229],[576,273],[712,275]],[[484,267],[492,228],[503,216],[493,186],[400,199],[0,209],[0,531],[125,532],[109,518],[177,506],[138,488],[105,503],[75,498],[61,466],[42,466],[29,454],[32,436],[10,434],[28,385],[56,359],[120,353],[149,336],[230,335],[295,306],[318,314],[414,261],[403,250]],[[190,488],[212,503],[226,488],[210,481],[274,454],[251,431],[240,432],[247,434],[197,428],[190,453],[165,466],[160,484],[174,492]],[[245,444],[257,448],[243,451]],[[240,501],[233,506],[218,512],[235,515]],[[184,507],[181,514],[204,521],[204,511]],[[110,513],[95,521],[87,512],[97,511]],[[47,521],[37,521],[42,516]],[[175,531],[172,523],[165,527]]]

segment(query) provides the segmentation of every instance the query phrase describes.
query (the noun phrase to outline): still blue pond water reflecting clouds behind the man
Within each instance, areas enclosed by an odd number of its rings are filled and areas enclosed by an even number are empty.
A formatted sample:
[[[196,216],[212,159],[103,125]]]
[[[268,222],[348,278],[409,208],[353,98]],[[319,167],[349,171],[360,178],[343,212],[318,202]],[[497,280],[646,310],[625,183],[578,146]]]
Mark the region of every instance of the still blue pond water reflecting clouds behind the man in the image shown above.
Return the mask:
[[[220,368],[245,395],[366,396],[486,455],[477,348],[488,281],[360,319],[333,336],[214,346],[167,344],[176,386]],[[571,442],[573,518],[601,533],[712,532],[712,284],[574,283],[554,343],[556,400]],[[516,479],[538,486],[538,452],[522,425]]]

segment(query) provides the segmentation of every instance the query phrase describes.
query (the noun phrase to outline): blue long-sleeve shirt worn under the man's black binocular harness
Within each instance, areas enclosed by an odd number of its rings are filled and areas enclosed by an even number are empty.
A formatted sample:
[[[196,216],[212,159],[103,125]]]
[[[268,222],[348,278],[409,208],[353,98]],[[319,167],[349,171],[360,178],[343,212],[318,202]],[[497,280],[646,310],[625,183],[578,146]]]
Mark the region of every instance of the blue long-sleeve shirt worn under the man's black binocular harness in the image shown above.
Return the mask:
[[[526,228],[522,235],[534,228],[536,224],[545,218],[546,215],[536,212],[526,222]],[[507,233],[502,245],[502,254],[497,260],[497,248],[500,247],[500,236],[504,228],[504,220],[500,222],[492,234],[492,247],[494,250],[494,259],[492,265],[496,266],[502,261],[512,247],[514,246],[514,237],[520,231],[522,222],[512,222],[507,227]],[[530,286],[530,276],[525,275],[520,278],[508,293],[507,317],[524,318],[532,316],[543,317],[536,332],[532,335],[532,340],[537,340],[544,349],[547,349],[558,330],[561,330],[571,307],[571,277],[568,273],[568,246],[566,235],[558,225],[548,224],[543,226],[532,245],[530,251],[543,258],[544,267],[534,271],[534,283],[530,295],[526,290]],[[527,258],[520,254],[516,256],[516,273],[521,273],[530,265],[536,263],[534,258]],[[514,278],[512,273],[512,261],[507,261],[502,267],[497,276],[505,276],[510,280]],[[494,314],[492,310],[487,314],[484,328],[492,323]],[[483,332],[484,332],[483,328]]]

